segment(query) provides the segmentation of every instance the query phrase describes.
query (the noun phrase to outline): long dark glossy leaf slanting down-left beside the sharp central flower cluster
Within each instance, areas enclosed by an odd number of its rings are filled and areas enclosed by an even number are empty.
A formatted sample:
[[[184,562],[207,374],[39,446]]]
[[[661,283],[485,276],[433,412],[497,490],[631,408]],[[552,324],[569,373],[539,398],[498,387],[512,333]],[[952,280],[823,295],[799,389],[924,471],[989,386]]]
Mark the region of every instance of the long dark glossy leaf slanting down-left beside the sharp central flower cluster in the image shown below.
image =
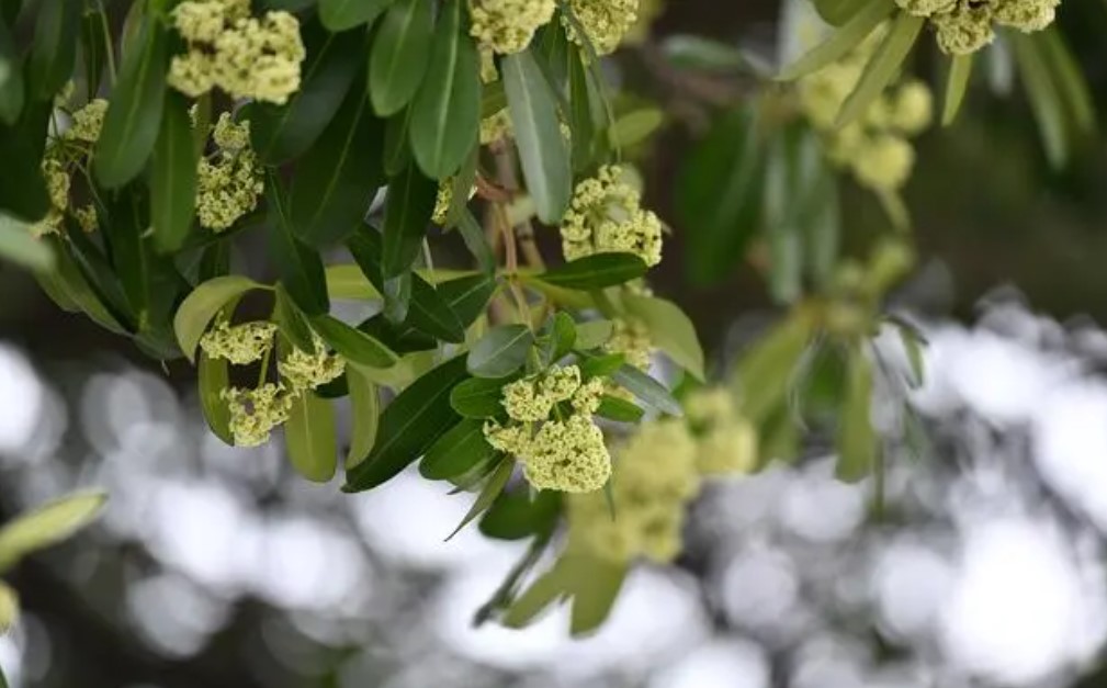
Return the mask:
[[[465,380],[465,357],[455,357],[412,382],[381,415],[369,460],[346,473],[344,492],[362,492],[395,478],[461,420],[449,392]]]

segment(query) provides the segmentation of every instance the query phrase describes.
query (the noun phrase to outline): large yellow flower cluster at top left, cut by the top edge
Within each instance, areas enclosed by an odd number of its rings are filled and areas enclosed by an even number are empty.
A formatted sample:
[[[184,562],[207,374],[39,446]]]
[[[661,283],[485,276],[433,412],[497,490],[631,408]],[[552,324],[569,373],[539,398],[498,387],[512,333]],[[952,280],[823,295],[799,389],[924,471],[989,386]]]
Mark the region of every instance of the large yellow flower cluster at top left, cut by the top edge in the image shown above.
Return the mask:
[[[186,0],[173,22],[188,51],[169,65],[169,85],[192,97],[218,86],[236,99],[281,105],[300,88],[300,22],[284,11],[250,16],[249,0]]]

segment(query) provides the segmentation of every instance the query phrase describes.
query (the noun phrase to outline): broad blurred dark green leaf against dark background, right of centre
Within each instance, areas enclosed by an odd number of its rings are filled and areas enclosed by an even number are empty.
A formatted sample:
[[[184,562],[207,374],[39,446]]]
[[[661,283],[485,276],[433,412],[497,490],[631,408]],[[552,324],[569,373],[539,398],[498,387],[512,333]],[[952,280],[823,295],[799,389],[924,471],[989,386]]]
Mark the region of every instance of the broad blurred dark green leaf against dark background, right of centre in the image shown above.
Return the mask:
[[[687,228],[685,273],[697,286],[733,274],[762,213],[765,146],[756,104],[721,117],[687,157],[676,216]]]

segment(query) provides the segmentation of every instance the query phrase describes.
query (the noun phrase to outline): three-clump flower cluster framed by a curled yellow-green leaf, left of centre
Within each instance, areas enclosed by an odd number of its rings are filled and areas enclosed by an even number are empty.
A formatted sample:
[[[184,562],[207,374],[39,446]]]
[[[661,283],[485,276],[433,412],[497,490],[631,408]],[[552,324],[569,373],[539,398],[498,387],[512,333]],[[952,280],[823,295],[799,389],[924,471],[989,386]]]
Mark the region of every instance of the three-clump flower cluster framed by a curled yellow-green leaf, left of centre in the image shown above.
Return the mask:
[[[273,347],[277,326],[271,322],[230,325],[225,317],[200,338],[200,349],[213,359],[236,366],[262,361],[266,368]],[[258,446],[269,441],[273,429],[284,423],[296,399],[318,389],[342,374],[345,361],[328,353],[323,341],[314,336],[313,351],[292,348],[277,363],[280,382],[265,382],[255,389],[228,387],[219,397],[230,412],[230,432],[237,446]],[[262,371],[263,373],[265,371]]]

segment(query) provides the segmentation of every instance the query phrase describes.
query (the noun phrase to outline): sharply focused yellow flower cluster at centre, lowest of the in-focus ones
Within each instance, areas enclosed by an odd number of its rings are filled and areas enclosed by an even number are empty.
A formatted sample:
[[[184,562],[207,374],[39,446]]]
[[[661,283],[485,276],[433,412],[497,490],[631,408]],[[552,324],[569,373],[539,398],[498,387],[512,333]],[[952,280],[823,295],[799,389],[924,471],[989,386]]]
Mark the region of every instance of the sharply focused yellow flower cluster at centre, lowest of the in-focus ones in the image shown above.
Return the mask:
[[[603,388],[599,378],[582,381],[576,366],[554,366],[511,382],[501,400],[509,420],[485,423],[485,438],[517,456],[527,481],[538,490],[600,490],[611,476],[603,431],[592,420]]]

